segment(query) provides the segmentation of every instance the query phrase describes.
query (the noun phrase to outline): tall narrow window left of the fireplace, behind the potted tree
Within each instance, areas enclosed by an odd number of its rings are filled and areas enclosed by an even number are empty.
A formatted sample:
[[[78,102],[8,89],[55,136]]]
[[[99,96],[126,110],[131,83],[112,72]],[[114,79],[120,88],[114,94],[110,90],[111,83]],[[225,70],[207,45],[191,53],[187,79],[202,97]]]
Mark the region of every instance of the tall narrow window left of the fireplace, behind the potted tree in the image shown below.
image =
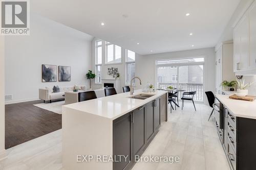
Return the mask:
[[[101,84],[101,65],[102,65],[102,40],[96,41],[95,51],[95,72],[96,72],[96,84]]]

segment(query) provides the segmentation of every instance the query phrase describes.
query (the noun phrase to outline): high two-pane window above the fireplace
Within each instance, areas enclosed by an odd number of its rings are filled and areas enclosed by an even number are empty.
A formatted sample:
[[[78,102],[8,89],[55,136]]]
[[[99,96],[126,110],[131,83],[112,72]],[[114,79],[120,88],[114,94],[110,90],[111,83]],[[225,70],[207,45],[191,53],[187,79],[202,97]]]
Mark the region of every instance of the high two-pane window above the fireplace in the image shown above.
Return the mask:
[[[121,63],[121,47],[106,42],[106,64]]]

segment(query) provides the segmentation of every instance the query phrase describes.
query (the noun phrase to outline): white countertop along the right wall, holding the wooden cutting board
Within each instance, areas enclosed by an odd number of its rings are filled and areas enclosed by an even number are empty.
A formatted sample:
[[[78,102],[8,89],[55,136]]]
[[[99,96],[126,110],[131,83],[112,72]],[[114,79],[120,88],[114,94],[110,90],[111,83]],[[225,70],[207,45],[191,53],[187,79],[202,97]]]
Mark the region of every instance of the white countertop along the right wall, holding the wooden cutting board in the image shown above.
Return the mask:
[[[216,94],[216,98],[227,107],[234,116],[256,119],[256,100],[253,102],[229,99],[229,95]]]

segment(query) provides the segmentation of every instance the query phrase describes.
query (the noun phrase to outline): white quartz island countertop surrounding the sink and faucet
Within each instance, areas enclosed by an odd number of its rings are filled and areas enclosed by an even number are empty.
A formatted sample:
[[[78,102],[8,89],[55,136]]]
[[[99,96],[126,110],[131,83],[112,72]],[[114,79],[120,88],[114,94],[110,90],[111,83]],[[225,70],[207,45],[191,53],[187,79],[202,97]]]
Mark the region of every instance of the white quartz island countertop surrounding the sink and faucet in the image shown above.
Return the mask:
[[[90,113],[114,120],[150,101],[157,99],[159,96],[167,93],[167,91],[156,90],[155,92],[145,93],[142,92],[142,90],[135,90],[133,95],[141,93],[155,95],[145,100],[140,100],[128,98],[132,95],[130,95],[130,92],[125,92],[94,100],[65,105],[62,107],[67,107],[70,109],[82,111],[84,113]]]

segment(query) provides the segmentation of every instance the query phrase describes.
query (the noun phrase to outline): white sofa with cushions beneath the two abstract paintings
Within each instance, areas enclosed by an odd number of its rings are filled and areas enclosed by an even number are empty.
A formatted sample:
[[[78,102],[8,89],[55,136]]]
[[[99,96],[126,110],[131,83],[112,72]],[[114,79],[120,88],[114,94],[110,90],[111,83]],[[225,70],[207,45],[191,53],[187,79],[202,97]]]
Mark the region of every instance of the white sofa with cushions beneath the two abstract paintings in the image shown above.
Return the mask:
[[[86,86],[80,86],[81,90],[87,90]],[[52,102],[52,100],[64,99],[65,91],[73,91],[75,86],[59,87],[59,92],[53,92],[53,87],[39,88],[39,99]]]

